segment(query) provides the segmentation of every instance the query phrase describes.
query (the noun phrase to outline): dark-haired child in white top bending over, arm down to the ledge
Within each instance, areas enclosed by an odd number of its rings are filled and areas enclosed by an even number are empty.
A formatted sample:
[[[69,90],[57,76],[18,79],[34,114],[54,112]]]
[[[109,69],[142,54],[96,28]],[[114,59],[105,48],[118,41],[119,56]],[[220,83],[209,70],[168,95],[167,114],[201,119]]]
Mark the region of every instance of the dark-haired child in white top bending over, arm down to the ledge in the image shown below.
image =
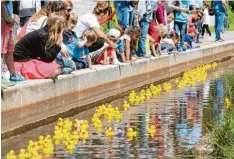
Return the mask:
[[[129,27],[125,30],[124,35],[121,37],[124,43],[125,54],[122,53],[121,57],[128,63],[131,63],[137,58],[136,55],[132,55],[134,48],[131,48],[132,44],[136,42],[141,35],[141,28],[138,26]],[[123,62],[124,62],[123,61]]]

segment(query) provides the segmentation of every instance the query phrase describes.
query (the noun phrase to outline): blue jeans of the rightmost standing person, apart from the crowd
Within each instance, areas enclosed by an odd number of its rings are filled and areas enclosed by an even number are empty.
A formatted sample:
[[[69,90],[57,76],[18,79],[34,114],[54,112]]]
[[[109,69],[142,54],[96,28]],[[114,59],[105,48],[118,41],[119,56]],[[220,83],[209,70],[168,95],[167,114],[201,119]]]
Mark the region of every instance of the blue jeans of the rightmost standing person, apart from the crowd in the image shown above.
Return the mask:
[[[220,33],[222,31],[222,28],[223,28],[223,23],[224,23],[224,13],[223,12],[219,12],[219,11],[216,11],[215,12],[215,40],[220,40],[221,39],[221,36],[220,36]]]

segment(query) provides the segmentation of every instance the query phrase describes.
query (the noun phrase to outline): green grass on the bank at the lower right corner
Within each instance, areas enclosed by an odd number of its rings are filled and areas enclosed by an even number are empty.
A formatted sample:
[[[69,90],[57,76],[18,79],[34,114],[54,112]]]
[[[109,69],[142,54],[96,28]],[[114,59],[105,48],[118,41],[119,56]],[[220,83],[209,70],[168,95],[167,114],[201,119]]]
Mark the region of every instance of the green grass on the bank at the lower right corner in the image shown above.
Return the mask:
[[[213,147],[212,156],[215,158],[234,158],[234,72],[224,77],[225,98],[232,101],[226,108],[223,119],[211,132],[211,143]]]

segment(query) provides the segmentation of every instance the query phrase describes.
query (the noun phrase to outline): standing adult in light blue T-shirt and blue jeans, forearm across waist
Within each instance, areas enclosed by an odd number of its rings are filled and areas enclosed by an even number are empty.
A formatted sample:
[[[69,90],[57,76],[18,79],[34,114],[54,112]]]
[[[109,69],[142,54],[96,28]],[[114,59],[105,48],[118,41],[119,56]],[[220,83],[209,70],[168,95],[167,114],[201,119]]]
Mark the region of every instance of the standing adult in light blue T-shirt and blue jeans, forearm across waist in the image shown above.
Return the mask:
[[[187,18],[190,2],[188,0],[171,0],[168,2],[169,8],[175,13],[175,31],[180,35],[181,46],[184,44],[184,37],[187,28]]]

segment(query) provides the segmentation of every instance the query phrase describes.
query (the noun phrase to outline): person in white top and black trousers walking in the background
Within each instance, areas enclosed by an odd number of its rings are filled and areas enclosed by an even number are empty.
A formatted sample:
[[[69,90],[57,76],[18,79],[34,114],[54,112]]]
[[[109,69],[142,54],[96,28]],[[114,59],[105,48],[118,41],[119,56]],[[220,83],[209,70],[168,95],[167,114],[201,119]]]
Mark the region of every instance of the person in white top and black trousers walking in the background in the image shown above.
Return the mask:
[[[210,15],[208,11],[209,5],[204,4],[204,15],[203,15],[203,25],[202,25],[202,38],[204,38],[205,34],[205,29],[208,32],[209,36],[211,37],[211,32],[210,32]]]

